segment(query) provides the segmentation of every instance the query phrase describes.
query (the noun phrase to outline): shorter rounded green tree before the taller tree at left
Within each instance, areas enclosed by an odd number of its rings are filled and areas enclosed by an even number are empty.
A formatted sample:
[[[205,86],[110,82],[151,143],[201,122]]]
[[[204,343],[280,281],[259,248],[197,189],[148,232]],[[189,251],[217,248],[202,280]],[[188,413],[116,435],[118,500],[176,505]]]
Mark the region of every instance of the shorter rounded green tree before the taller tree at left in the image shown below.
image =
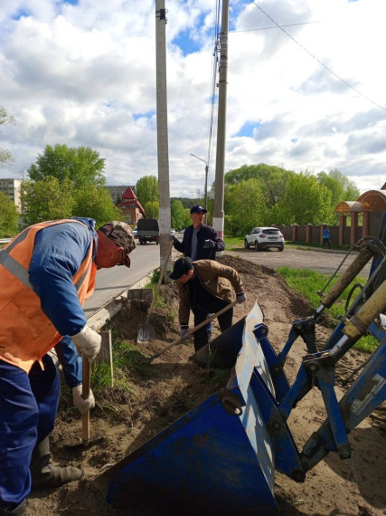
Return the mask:
[[[26,225],[74,215],[72,183],[69,178],[61,182],[57,177],[50,176],[40,181],[23,181],[21,197]]]

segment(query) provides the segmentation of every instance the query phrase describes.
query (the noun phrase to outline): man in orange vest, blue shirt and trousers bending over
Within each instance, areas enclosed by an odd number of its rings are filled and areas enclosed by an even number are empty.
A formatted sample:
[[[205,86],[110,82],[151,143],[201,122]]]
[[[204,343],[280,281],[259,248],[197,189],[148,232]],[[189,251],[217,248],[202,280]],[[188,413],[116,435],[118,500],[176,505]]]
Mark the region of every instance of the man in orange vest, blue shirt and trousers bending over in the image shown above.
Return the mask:
[[[60,379],[47,353],[69,336],[82,359],[98,355],[101,338],[83,303],[97,270],[129,267],[135,247],[125,223],[96,231],[93,219],[73,217],[27,227],[0,251],[0,514],[26,515],[32,483],[80,478],[80,469],[50,461]]]

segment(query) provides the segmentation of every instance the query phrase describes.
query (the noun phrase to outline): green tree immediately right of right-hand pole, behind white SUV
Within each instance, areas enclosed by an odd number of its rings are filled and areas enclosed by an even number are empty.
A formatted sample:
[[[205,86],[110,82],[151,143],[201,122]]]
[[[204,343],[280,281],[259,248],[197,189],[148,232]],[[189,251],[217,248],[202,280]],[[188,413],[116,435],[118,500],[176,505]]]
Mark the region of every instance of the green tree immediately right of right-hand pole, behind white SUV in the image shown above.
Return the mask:
[[[241,181],[225,192],[224,230],[227,234],[246,234],[251,227],[265,225],[264,196],[257,179]]]

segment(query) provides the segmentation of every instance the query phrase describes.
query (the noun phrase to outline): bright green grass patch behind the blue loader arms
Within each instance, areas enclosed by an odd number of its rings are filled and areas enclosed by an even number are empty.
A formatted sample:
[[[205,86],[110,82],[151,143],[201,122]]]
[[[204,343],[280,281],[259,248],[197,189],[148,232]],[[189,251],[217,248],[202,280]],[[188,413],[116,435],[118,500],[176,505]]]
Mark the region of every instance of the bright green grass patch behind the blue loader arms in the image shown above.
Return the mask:
[[[323,291],[325,284],[330,278],[328,275],[320,274],[319,272],[311,271],[309,269],[296,270],[291,269],[290,267],[279,267],[278,272],[285,279],[288,287],[305,295],[306,298],[311,301],[311,304],[315,309],[320,306],[321,301],[317,291]],[[334,280],[327,287],[326,292],[333,286],[334,282],[337,281],[339,276],[340,274],[336,275]],[[336,324],[339,322],[338,317],[340,315],[344,315],[346,312],[345,304],[350,291],[353,288],[353,285],[355,283],[362,283],[362,285],[364,285],[366,281],[366,278],[357,276],[353,282],[344,290],[340,298],[335,301],[334,305],[329,309],[325,309],[325,313],[329,314]],[[358,290],[353,292],[351,301],[353,301],[358,292]],[[355,344],[355,348],[361,349],[367,353],[372,353],[378,347],[378,345],[379,343],[377,339],[374,339],[372,336],[366,336],[358,340],[358,342]]]

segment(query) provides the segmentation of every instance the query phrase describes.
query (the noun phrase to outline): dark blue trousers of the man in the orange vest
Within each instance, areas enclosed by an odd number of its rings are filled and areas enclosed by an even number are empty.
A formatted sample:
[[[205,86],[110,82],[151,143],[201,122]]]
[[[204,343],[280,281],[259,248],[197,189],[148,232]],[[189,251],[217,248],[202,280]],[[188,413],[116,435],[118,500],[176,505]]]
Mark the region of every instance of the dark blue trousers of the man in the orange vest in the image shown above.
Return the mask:
[[[30,374],[0,360],[0,508],[13,510],[31,491],[33,447],[52,432],[61,383],[52,358]]]

